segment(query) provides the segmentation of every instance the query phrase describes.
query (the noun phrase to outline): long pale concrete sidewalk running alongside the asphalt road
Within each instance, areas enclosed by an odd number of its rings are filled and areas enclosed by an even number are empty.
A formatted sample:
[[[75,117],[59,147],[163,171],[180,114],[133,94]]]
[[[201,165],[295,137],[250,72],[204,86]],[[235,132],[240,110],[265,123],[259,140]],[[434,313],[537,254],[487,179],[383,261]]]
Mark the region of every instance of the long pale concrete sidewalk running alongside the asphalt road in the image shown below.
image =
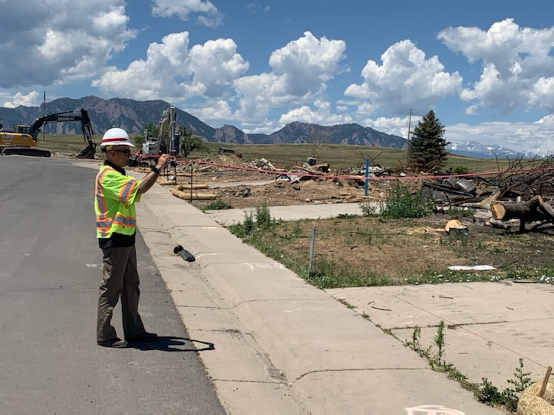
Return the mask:
[[[229,413],[405,414],[423,405],[500,413],[162,186],[137,206],[141,235],[189,335],[215,345],[199,355]],[[310,208],[336,215],[345,206]],[[298,209],[299,217],[313,214]],[[177,244],[196,262],[174,255]]]

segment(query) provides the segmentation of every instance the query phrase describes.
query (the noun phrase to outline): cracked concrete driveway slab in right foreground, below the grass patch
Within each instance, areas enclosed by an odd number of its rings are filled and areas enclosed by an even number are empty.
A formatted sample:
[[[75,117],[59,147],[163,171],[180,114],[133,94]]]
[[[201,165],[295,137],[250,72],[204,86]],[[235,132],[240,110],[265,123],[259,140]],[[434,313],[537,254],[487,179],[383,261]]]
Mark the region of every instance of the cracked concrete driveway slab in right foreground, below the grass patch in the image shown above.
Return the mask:
[[[554,287],[525,281],[473,282],[404,287],[327,290],[356,312],[398,336],[411,339],[421,329],[423,349],[434,346],[445,324],[445,359],[470,382],[486,377],[504,390],[524,359],[532,381],[542,381],[554,364]]]

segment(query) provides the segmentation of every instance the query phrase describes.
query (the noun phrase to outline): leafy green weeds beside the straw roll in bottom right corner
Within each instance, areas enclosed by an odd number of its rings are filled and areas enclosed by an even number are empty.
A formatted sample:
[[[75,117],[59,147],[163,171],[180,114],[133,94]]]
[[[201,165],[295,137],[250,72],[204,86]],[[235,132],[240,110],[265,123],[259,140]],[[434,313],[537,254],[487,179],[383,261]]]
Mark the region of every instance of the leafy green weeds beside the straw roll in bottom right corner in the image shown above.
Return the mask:
[[[527,386],[531,385],[530,374],[530,372],[524,371],[524,360],[520,358],[519,367],[516,367],[516,371],[514,372],[514,378],[507,380],[507,383],[511,386],[500,392],[498,387],[484,377],[482,379],[483,384],[478,392],[476,392],[475,396],[479,402],[488,406],[501,406],[504,407],[507,412],[516,412],[521,392],[523,392]]]

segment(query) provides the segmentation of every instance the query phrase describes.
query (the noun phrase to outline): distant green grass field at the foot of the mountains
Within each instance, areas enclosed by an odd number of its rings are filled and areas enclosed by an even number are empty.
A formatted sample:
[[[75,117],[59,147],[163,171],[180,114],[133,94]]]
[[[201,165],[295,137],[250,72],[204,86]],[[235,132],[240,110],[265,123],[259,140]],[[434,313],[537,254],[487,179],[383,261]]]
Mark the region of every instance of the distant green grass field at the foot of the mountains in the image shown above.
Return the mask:
[[[100,136],[96,136],[96,142],[100,144]],[[86,147],[82,136],[47,134],[45,141],[39,136],[39,148],[49,149],[61,153],[79,153]],[[236,153],[243,155],[245,160],[264,157],[273,164],[281,167],[292,167],[295,164],[306,162],[307,157],[312,157],[312,144],[228,144],[207,143],[208,151],[193,152],[191,157],[209,157],[217,154],[219,147],[232,148]],[[331,168],[343,169],[349,167],[362,167],[366,158],[370,158],[373,164],[379,164],[383,168],[402,169],[406,165],[406,150],[377,148],[366,146],[340,146],[337,144],[321,145],[318,149],[319,162],[328,162]],[[98,157],[102,157],[97,152]],[[501,170],[508,166],[509,161],[500,159],[475,159],[461,155],[449,155],[445,168],[463,166],[472,173],[490,170]]]

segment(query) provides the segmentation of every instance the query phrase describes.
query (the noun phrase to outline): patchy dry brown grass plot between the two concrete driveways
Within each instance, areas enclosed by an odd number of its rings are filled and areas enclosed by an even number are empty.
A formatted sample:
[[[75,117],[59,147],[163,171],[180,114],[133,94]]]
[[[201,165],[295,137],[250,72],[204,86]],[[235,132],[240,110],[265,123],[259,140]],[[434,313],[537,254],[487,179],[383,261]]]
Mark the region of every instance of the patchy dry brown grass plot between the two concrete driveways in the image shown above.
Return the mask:
[[[406,283],[490,281],[552,271],[554,229],[509,234],[461,219],[468,234],[448,235],[451,216],[384,221],[380,217],[346,217],[315,221],[314,269],[307,271],[310,231],[314,221],[275,224],[245,241],[284,263],[322,288]],[[490,265],[495,271],[454,272],[453,265]],[[550,272],[548,271],[548,272]]]

